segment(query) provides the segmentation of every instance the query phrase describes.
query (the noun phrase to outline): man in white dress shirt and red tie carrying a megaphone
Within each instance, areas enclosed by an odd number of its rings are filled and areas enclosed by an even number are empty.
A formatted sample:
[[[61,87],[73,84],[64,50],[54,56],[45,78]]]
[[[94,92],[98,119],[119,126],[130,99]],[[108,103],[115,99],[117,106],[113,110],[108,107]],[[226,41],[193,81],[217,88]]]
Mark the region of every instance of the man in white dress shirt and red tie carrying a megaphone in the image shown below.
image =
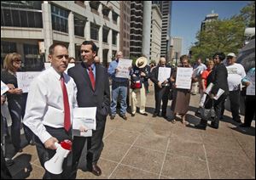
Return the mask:
[[[54,43],[49,47],[51,67],[37,76],[31,86],[26,101],[24,124],[37,136],[36,145],[41,166],[55,155],[55,142],[72,140],[71,124],[73,108],[77,105],[77,87],[67,69],[68,52],[65,44]],[[64,82],[63,82],[64,78]],[[63,90],[65,88],[65,90]],[[64,119],[68,120],[68,124]],[[66,126],[68,125],[68,126]],[[43,178],[68,178],[69,154],[63,162],[63,172],[55,175],[45,170]],[[70,160],[71,162],[72,160]],[[68,165],[67,165],[68,164]]]

